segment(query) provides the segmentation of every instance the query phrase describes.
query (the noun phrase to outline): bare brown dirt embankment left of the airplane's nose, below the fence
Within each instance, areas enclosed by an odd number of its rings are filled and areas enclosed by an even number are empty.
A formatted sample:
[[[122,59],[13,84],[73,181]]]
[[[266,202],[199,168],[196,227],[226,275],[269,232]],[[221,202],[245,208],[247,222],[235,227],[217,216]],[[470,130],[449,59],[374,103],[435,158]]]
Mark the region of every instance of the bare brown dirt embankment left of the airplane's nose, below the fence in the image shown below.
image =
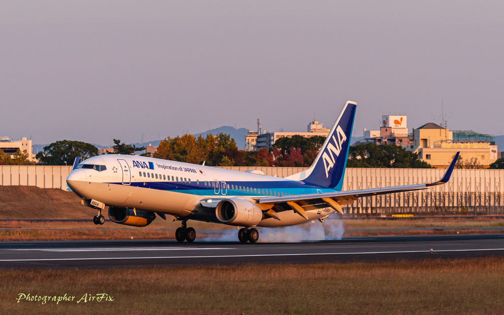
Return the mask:
[[[0,186],[0,219],[90,219],[96,215],[73,192]]]

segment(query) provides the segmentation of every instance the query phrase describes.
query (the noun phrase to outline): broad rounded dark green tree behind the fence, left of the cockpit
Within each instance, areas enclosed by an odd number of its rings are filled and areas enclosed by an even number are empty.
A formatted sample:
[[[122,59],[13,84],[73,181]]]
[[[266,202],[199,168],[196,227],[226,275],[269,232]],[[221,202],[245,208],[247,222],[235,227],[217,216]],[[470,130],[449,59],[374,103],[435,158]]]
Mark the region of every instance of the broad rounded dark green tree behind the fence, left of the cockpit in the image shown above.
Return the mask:
[[[72,165],[75,158],[80,156],[81,161],[98,155],[98,149],[92,144],[81,141],[62,140],[44,147],[42,152],[35,156],[42,165]]]

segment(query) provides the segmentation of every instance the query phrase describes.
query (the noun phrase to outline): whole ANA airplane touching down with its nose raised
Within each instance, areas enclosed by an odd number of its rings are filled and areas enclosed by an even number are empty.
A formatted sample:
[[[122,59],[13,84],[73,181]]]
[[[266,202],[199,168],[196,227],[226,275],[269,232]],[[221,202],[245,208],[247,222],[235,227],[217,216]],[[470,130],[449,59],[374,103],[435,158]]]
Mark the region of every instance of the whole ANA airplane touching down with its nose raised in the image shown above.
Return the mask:
[[[188,220],[242,227],[240,242],[259,239],[256,226],[280,227],[324,222],[330,214],[357,198],[427,189],[448,182],[459,153],[444,177],[436,182],[342,191],[357,104],[346,102],[313,164],[286,178],[181,163],[134,155],[101,155],[79,164],[67,177],[83,205],[98,210],[95,224],[103,224],[108,207],[112,222],[147,226],[156,215],[181,221],[179,242],[196,239]]]

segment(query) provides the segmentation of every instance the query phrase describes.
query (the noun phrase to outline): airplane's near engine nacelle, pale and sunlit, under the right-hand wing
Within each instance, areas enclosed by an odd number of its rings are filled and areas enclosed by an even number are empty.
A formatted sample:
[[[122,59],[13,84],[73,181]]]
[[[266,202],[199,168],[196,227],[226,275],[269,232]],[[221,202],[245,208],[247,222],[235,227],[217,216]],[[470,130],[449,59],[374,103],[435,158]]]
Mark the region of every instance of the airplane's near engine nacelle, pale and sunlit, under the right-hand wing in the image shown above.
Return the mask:
[[[223,199],[215,214],[222,223],[236,226],[256,226],[263,219],[261,208],[240,198]]]

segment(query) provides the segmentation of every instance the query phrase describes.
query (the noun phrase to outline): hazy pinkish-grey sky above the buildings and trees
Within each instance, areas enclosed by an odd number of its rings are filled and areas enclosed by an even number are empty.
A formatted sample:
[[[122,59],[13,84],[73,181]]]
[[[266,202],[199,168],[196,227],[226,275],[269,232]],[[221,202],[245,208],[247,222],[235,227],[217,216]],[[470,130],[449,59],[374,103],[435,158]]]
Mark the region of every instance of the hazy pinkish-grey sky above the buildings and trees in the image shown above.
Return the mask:
[[[358,103],[504,132],[503,1],[3,1],[0,136],[108,145],[221,125],[306,131]]]

